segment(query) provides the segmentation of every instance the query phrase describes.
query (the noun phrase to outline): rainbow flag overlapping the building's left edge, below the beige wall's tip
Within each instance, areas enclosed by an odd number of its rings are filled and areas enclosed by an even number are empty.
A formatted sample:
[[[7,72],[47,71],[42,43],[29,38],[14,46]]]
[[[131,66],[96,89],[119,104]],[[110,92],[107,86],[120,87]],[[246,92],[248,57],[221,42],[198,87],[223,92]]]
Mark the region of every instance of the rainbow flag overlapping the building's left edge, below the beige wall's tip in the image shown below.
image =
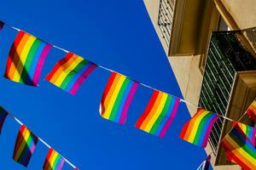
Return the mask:
[[[199,109],[195,116],[184,124],[179,137],[191,144],[206,147],[212,126],[218,117],[216,113]]]

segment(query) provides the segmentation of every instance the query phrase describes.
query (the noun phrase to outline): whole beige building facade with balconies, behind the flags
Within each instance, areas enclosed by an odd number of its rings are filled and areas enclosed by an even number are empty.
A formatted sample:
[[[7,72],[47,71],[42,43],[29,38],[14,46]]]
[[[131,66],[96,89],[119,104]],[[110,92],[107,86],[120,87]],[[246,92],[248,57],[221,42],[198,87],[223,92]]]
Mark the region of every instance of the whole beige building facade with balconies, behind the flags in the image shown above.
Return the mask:
[[[256,98],[256,1],[144,0],[183,98],[239,120]],[[242,31],[241,31],[242,30]],[[193,116],[197,110],[188,105]],[[250,122],[246,116],[241,122]],[[214,169],[241,169],[218,143],[231,123],[212,128]]]

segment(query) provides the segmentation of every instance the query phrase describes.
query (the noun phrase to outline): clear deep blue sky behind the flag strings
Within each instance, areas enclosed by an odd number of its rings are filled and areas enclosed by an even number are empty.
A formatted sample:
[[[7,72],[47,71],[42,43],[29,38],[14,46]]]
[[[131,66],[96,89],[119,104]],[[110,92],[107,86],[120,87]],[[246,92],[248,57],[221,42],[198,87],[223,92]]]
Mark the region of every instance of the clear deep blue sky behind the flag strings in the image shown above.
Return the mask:
[[[67,48],[100,65],[182,97],[143,1],[1,1],[0,20]],[[16,32],[0,34],[0,74]],[[140,87],[125,125],[108,122],[99,113],[109,72],[96,69],[72,96],[44,80],[64,53],[53,48],[40,86],[32,88],[0,78],[0,103],[27,127],[80,169],[193,170],[207,156],[203,149],[178,138],[189,119],[178,109],[165,139],[133,127],[151,90]],[[10,118],[0,136],[0,169],[25,169],[12,160],[19,125]],[[48,149],[38,143],[27,169],[41,169]],[[63,169],[72,169],[65,164]]]

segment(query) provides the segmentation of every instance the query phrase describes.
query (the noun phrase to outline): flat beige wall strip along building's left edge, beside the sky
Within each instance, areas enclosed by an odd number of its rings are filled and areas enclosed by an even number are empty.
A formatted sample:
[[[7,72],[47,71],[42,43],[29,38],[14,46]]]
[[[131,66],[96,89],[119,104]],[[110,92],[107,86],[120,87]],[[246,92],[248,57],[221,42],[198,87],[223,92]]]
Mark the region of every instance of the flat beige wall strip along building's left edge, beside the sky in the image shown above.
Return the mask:
[[[161,37],[160,29],[157,25],[160,0],[144,0],[144,3],[148,9],[149,17],[167,56],[169,48],[166,46],[164,39]],[[192,104],[198,105],[202,81],[201,71],[198,68],[200,55],[172,56],[168,57],[168,59],[183,94],[183,98]],[[192,105],[188,105],[188,108],[190,115],[193,116],[197,108]]]

